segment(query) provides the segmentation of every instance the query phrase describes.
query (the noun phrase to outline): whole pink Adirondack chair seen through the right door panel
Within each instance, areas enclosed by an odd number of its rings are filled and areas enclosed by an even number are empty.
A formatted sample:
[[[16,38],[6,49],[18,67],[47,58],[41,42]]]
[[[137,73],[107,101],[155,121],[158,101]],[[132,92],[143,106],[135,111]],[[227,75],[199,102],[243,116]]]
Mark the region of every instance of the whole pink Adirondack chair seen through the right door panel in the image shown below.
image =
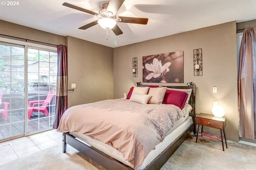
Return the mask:
[[[49,116],[47,107],[50,105],[54,95],[54,90],[50,90],[45,100],[29,101],[28,102],[28,119],[30,119],[32,112],[42,112]],[[32,106],[31,106],[32,105]]]

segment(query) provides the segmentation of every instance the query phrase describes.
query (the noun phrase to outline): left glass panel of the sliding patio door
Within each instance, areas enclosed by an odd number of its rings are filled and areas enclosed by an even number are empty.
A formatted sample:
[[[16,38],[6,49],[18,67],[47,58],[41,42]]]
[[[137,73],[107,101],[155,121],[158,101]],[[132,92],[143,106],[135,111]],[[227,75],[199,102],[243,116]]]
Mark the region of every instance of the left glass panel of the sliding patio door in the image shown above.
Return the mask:
[[[25,49],[0,44],[0,140],[24,134]]]

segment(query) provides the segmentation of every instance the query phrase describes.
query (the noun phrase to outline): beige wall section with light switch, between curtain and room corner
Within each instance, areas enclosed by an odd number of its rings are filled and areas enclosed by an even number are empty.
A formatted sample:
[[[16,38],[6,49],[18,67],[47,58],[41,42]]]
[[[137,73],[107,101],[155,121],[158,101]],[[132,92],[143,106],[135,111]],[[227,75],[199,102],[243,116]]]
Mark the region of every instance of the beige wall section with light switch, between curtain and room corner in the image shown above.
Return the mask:
[[[113,99],[113,48],[66,37],[68,47],[68,107]]]

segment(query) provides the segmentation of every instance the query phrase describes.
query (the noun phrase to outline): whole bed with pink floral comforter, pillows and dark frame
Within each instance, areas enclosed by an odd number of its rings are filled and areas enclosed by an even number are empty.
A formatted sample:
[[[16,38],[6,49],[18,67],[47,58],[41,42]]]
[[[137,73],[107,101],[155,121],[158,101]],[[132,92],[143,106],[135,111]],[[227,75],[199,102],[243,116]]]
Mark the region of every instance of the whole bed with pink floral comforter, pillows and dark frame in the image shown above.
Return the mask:
[[[137,103],[134,97],[138,93],[132,93],[130,99],[106,100],[68,109],[58,127],[59,131],[64,132],[63,153],[66,152],[66,144],[69,144],[109,170],[160,169],[187,136],[192,131],[195,134],[196,87],[190,85],[164,88],[168,89],[164,91],[165,102],[167,91],[174,91],[174,89],[185,91],[190,89],[191,95],[185,99],[187,103],[183,103],[182,107],[178,105],[178,107],[173,107],[173,105],[168,105],[170,103],[156,105],[152,104],[157,102],[154,101],[152,94],[160,88],[148,87],[146,93],[151,95],[151,98],[146,103],[149,104],[143,105],[140,101]],[[130,108],[132,109],[128,111]],[[119,113],[121,110],[122,115]],[[89,113],[81,116],[85,111]],[[177,114],[172,115],[169,112],[177,112]],[[136,114],[130,116],[131,113]],[[112,120],[108,120],[110,115],[112,115]],[[82,119],[85,119],[86,123],[82,122]],[[125,121],[122,122],[120,119]],[[159,123],[162,119],[168,120],[168,123],[165,123],[166,125]],[[94,122],[91,123],[92,120]],[[111,125],[109,125],[110,122]],[[112,125],[113,122],[117,125]],[[138,135],[138,131],[141,131],[141,134]]]

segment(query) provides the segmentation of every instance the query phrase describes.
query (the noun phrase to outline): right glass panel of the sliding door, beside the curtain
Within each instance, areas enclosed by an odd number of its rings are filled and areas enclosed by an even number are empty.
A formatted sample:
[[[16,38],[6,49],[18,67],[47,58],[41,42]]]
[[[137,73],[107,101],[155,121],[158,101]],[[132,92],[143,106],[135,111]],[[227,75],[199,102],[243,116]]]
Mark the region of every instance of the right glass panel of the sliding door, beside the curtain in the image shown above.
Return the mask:
[[[28,48],[27,74],[28,132],[52,127],[55,116],[57,53]]]

